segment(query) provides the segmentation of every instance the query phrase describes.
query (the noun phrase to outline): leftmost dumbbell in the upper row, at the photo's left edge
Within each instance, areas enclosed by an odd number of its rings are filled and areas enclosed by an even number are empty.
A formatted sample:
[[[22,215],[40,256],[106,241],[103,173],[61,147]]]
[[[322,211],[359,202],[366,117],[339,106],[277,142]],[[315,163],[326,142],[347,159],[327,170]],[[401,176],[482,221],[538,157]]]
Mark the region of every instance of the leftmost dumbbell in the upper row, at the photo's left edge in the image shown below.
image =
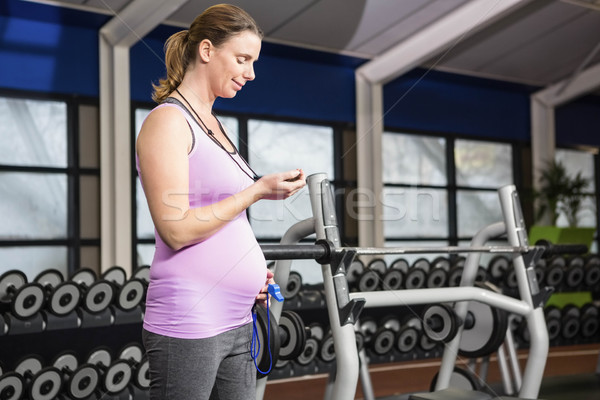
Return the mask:
[[[0,276],[0,305],[15,318],[34,317],[44,306],[45,297],[42,285],[27,283],[27,276],[21,271],[7,271]]]

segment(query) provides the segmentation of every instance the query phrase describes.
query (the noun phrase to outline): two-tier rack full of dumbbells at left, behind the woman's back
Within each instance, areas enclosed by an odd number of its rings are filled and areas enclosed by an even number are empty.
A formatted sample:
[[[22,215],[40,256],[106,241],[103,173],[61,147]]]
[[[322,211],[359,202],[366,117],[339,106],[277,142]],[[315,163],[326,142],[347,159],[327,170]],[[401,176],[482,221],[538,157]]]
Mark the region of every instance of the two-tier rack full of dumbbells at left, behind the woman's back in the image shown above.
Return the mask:
[[[3,276],[10,273],[12,271]],[[139,268],[131,279],[126,280],[125,271],[120,267],[105,271],[101,277],[84,268],[63,282],[58,271],[46,270],[35,278],[35,282],[23,285],[43,287],[48,298],[40,302],[40,307],[27,318],[14,310],[0,314],[2,396],[17,398],[13,397],[18,395],[18,390],[14,389],[22,385],[22,390],[27,393],[37,382],[45,385],[47,393],[34,391],[28,395],[30,400],[49,399],[48,396],[54,396],[52,393],[57,390],[57,397],[53,399],[81,398],[72,396],[88,390],[86,400],[100,397],[106,400],[131,399],[132,396],[134,399],[146,399],[148,382],[141,370],[144,273],[144,268]],[[136,274],[141,276],[136,277]],[[19,276],[18,273],[13,275]],[[80,287],[81,298],[79,291],[70,290],[69,296],[56,299],[58,291],[55,289],[65,286]],[[67,298],[70,299],[69,310],[64,303]],[[27,301],[24,303],[29,304]],[[11,308],[14,308],[12,304]],[[135,349],[138,350],[133,351]],[[99,354],[102,356],[98,357]],[[78,366],[82,368],[78,369]],[[83,369],[84,366],[86,369]],[[142,375],[134,377],[134,369]],[[44,376],[40,380],[33,379],[39,371],[59,376],[60,380],[58,383],[45,381]],[[125,379],[128,374],[129,379]],[[69,382],[74,375],[78,382],[73,389]],[[115,382],[110,382],[111,375],[114,375]]]

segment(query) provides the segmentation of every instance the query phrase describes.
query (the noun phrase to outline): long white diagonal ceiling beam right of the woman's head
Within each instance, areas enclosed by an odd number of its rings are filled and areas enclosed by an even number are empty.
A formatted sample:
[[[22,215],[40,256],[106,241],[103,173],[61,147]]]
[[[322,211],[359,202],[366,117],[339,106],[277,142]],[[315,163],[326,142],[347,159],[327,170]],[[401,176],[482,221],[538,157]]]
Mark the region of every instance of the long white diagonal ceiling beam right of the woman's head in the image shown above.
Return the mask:
[[[387,83],[531,1],[470,1],[361,66],[357,73],[370,82]]]

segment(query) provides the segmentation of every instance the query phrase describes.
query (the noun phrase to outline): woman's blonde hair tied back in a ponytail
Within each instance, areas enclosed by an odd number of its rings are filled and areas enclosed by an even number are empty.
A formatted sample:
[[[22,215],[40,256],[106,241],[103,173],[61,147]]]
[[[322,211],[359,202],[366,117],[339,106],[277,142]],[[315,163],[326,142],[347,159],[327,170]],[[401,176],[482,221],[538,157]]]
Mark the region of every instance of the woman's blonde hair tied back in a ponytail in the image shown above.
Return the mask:
[[[166,78],[152,84],[152,100],[162,103],[182,82],[188,66],[196,60],[198,45],[208,39],[219,47],[232,36],[251,31],[262,39],[263,31],[246,11],[231,4],[207,8],[194,19],[189,29],[177,32],[165,43]]]

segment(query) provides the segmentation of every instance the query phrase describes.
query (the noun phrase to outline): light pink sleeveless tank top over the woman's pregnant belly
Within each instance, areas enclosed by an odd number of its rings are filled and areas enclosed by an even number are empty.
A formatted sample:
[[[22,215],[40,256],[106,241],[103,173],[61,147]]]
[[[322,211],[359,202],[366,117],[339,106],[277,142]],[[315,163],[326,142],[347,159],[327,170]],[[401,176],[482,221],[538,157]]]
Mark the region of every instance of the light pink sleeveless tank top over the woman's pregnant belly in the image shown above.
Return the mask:
[[[247,169],[241,156],[231,154],[238,166],[182,106],[163,103],[158,107],[178,107],[192,127],[190,208],[213,204],[253,183],[240,169]],[[139,172],[139,162],[137,165]],[[168,247],[157,233],[155,237],[144,316],[146,330],[199,339],[252,321],[252,306],[265,284],[267,270],[245,211],[208,239],[179,251]]]

